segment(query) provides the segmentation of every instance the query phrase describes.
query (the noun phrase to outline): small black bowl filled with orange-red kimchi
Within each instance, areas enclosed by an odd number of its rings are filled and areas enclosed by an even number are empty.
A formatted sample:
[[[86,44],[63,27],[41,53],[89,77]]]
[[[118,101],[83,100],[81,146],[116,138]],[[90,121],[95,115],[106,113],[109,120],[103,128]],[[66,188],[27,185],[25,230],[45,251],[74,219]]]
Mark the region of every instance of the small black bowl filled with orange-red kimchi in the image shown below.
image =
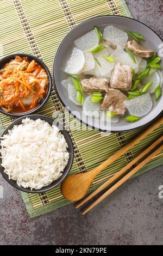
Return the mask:
[[[41,59],[14,53],[0,59],[0,112],[10,117],[38,112],[48,101],[52,77]]]

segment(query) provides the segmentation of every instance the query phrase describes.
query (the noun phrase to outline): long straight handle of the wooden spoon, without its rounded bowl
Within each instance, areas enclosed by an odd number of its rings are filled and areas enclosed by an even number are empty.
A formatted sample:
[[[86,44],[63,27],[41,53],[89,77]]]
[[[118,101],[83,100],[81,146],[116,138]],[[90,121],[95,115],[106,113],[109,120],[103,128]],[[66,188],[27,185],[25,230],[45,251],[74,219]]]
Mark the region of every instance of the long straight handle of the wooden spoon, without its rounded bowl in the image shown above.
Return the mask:
[[[145,138],[147,135],[149,135],[151,132],[153,132],[161,124],[163,124],[163,117],[161,117],[155,123],[153,123],[151,126],[149,126],[144,132],[142,132],[139,136],[137,136],[135,139],[133,139],[133,141],[129,142],[123,148],[118,150],[114,155],[110,156],[104,162],[99,164],[99,166],[93,168],[90,171],[90,174],[94,173],[96,176],[98,173],[100,173],[102,170],[104,170],[106,167],[108,167],[111,163],[113,163],[119,157],[124,155],[129,149],[133,148],[137,143],[139,143],[143,138]]]

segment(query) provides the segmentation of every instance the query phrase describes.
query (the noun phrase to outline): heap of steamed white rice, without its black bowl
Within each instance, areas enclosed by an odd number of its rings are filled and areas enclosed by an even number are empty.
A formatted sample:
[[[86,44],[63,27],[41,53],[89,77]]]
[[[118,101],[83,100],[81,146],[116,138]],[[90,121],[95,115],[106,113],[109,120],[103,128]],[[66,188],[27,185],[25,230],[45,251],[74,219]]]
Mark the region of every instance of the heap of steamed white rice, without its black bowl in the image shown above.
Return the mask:
[[[67,165],[65,138],[41,119],[23,119],[1,141],[4,172],[18,186],[39,190],[57,180]]]

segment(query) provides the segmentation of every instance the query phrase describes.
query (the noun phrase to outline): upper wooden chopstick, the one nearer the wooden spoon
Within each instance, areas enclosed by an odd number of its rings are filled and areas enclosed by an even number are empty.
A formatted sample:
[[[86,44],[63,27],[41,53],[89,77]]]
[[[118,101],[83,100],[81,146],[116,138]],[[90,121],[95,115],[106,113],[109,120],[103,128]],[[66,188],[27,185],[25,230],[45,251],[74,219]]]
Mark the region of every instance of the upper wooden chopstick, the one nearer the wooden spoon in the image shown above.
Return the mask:
[[[79,208],[84,203],[86,203],[88,200],[90,200],[92,197],[96,196],[99,192],[104,190],[107,186],[109,186],[112,182],[114,182],[117,178],[119,178],[123,173],[125,173],[131,166],[133,166],[137,161],[142,159],[143,156],[149,153],[153,148],[156,147],[161,141],[163,141],[163,136],[161,136],[157,141],[155,141],[152,145],[150,145],[146,150],[144,150],[139,156],[135,157],[135,159],[127,164],[127,166],[124,166],[120,172],[117,172],[114,176],[112,176],[109,180],[104,182],[104,184],[97,188],[94,192],[92,192],[89,196],[87,196],[82,202],[76,205],[76,208]]]

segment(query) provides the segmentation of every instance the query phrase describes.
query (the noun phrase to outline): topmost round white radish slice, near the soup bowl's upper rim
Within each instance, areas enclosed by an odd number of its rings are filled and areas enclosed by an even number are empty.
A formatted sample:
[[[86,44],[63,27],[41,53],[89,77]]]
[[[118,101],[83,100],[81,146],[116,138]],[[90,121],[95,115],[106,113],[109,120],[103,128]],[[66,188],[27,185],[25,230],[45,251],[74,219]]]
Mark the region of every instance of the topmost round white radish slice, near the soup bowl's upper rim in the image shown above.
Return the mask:
[[[128,35],[126,32],[121,31],[121,29],[114,26],[107,26],[104,29],[103,38],[114,45],[124,48],[128,40]]]

